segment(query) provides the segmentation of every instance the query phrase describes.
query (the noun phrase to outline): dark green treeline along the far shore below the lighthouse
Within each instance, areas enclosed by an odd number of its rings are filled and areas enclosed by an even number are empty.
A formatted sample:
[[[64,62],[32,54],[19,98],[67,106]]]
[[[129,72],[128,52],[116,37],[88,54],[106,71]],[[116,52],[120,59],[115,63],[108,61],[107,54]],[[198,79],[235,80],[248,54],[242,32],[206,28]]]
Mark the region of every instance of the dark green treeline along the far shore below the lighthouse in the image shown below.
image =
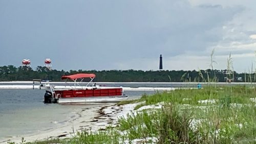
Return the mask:
[[[226,82],[231,79],[234,82],[255,82],[255,74],[238,74],[227,70],[49,70],[47,67],[31,67],[13,65],[0,66],[0,81],[32,81],[33,79],[62,81],[63,75],[77,73],[93,73],[95,82],[204,82],[213,78],[217,82]],[[201,75],[200,75],[201,74]]]

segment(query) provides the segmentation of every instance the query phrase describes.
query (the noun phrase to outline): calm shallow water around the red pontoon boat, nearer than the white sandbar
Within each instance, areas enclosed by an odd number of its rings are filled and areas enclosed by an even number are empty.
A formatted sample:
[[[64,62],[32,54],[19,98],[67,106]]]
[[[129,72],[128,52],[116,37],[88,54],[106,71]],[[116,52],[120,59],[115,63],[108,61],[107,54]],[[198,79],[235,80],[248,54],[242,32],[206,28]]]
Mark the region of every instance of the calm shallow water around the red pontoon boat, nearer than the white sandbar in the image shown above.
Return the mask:
[[[143,93],[154,91],[124,91],[130,99]],[[44,94],[39,89],[0,89],[0,139],[61,127],[78,117],[81,109],[104,105],[44,104]]]

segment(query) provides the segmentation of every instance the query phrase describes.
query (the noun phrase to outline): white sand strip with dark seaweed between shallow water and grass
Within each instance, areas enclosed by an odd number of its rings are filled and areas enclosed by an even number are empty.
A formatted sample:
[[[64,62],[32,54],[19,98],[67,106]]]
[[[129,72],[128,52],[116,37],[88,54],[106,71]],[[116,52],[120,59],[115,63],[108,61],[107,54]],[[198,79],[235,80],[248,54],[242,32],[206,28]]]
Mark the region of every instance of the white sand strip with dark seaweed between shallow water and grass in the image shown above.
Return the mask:
[[[123,108],[125,106],[125,109]],[[0,143],[15,142],[19,143],[24,137],[26,142],[41,141],[51,138],[71,138],[77,132],[82,130],[104,130],[110,125],[116,125],[119,116],[126,115],[129,111],[133,110],[134,104],[127,104],[117,106],[114,103],[106,104],[104,106],[97,106],[93,108],[81,109],[78,112],[78,118],[72,119],[67,125],[51,128],[49,130],[40,131],[30,135],[19,135],[10,138],[0,138]],[[54,129],[54,130],[53,130]]]

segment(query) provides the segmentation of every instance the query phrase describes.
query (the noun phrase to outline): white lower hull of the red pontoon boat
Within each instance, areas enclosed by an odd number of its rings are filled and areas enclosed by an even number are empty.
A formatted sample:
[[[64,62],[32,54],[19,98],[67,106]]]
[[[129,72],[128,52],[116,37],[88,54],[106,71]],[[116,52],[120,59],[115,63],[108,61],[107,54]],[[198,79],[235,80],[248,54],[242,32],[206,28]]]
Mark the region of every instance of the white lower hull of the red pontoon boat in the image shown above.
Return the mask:
[[[116,103],[125,101],[129,98],[128,95],[120,96],[103,96],[103,97],[81,97],[81,98],[59,98],[57,103]]]

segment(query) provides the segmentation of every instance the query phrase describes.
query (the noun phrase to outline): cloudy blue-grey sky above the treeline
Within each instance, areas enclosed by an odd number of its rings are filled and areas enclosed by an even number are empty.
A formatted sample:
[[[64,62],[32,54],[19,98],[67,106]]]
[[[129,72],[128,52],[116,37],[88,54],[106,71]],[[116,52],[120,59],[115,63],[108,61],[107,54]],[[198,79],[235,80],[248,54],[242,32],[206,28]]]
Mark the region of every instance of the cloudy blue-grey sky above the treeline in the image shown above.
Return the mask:
[[[0,66],[58,70],[256,68],[255,0],[0,0]],[[251,68],[253,65],[253,68]]]

